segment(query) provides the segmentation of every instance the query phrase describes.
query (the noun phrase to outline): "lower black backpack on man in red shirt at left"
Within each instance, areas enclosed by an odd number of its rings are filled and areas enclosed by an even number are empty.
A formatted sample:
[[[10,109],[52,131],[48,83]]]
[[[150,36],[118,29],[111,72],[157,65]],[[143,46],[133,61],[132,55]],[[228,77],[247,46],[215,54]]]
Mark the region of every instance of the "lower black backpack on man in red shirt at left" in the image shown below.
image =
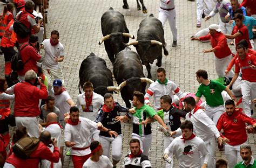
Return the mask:
[[[23,50],[23,48],[25,48],[26,46],[28,46],[29,44],[26,44],[24,47],[20,48],[18,50],[18,52],[16,52],[12,58],[11,58],[11,69],[13,71],[19,71],[22,70],[24,68],[24,65],[31,60],[31,58],[29,58],[28,60],[26,60],[24,63],[22,62],[21,59],[21,51]]]

